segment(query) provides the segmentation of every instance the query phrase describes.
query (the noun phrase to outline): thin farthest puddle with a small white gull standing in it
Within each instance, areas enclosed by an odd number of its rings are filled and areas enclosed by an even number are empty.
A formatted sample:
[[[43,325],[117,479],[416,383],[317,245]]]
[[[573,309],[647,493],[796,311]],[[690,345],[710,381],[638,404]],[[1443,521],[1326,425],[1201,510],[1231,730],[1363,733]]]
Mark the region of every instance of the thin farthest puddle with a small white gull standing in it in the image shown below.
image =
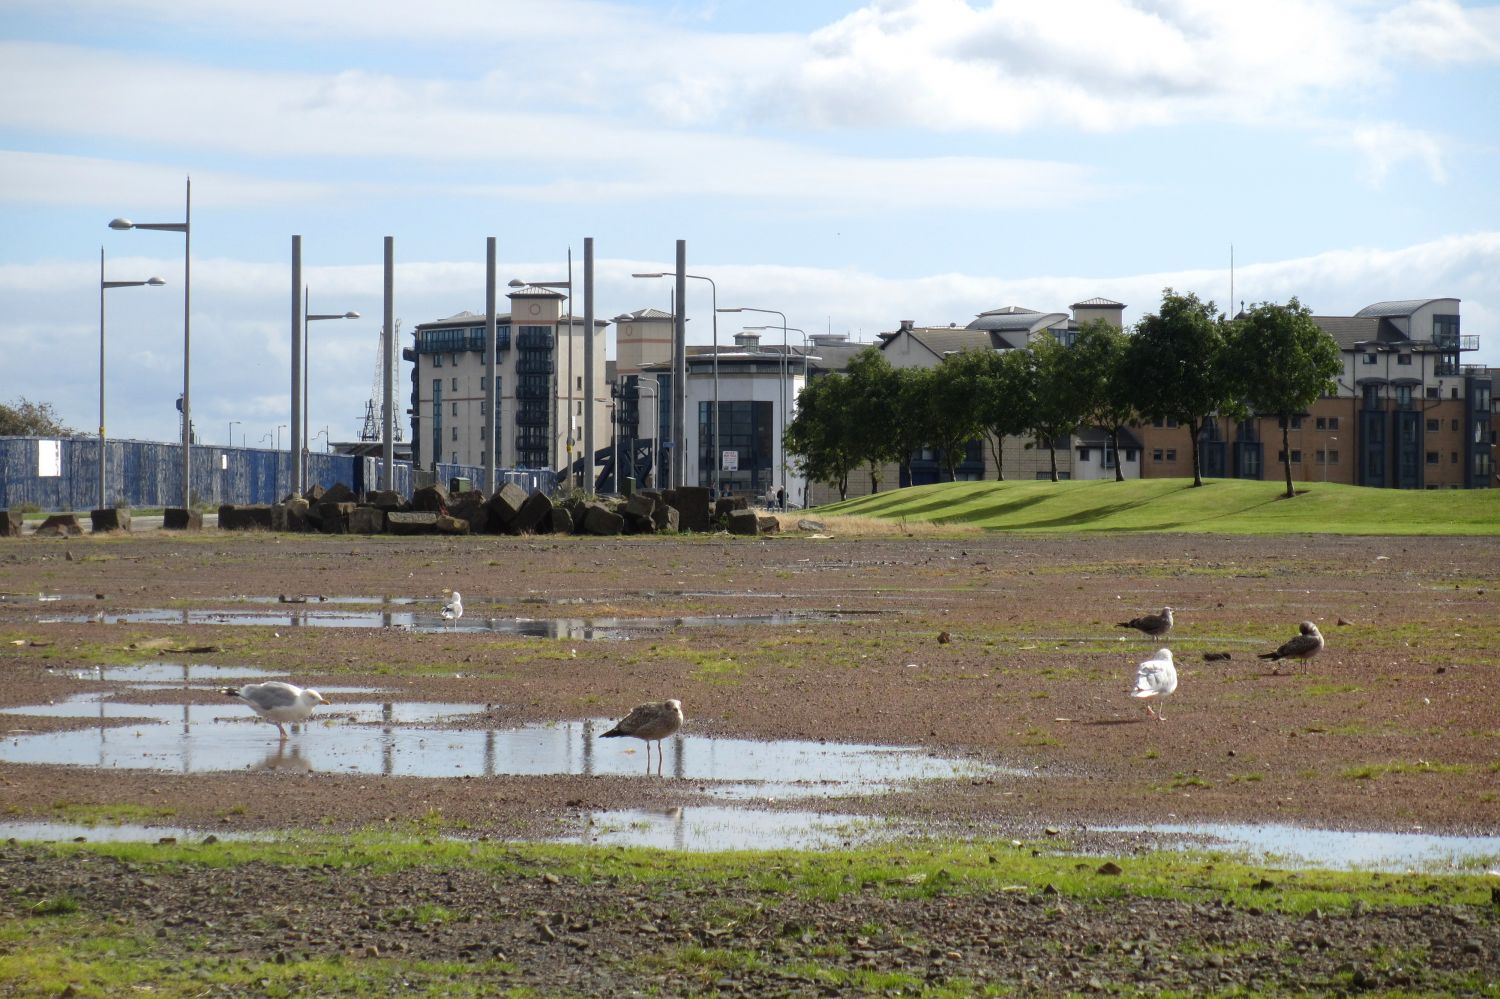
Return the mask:
[[[302,604],[297,604],[302,606]],[[777,614],[724,614],[693,615],[681,618],[482,618],[465,615],[459,621],[444,621],[436,610],[420,614],[412,610],[298,610],[298,612],[250,612],[250,610],[124,610],[64,615],[45,618],[42,624],[82,624],[102,621],[111,624],[228,624],[256,627],[314,627],[314,628],[404,628],[410,632],[490,632],[496,634],[519,634],[546,639],[630,639],[642,634],[672,632],[675,628],[704,628],[728,626],[784,627],[820,621],[840,621],[843,610],[783,610]]]

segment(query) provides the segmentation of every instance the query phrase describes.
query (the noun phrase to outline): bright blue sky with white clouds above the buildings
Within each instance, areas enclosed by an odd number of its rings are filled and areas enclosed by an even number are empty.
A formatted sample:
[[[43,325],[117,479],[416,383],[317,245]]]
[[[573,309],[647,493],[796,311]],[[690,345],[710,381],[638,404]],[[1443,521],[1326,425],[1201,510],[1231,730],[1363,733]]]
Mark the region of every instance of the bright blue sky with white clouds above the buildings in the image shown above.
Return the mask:
[[[106,292],[108,434],[178,438],[184,240],[108,222],[182,222],[189,177],[208,444],[290,441],[294,234],[312,312],[362,314],[310,324],[333,441],[387,236],[405,344],[484,310],[488,237],[501,285],[572,254],[580,314],[591,237],[604,320],[670,309],[630,274],[686,240],[692,344],[712,294],[873,342],[1170,286],[1458,297],[1500,366],[1496,94],[1500,6],[1456,0],[0,0],[0,402],[98,429],[104,250],[166,280]]]

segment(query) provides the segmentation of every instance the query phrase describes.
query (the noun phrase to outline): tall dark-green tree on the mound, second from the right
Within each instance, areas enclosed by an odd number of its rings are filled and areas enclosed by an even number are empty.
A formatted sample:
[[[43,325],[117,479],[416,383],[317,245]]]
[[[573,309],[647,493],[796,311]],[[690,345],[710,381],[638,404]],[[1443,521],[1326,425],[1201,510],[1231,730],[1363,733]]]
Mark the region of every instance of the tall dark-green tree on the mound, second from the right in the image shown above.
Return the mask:
[[[1212,302],[1167,288],[1161,310],[1140,318],[1125,351],[1124,374],[1142,417],[1173,418],[1188,428],[1194,486],[1203,484],[1198,436],[1209,416],[1238,402],[1224,344],[1224,322]]]

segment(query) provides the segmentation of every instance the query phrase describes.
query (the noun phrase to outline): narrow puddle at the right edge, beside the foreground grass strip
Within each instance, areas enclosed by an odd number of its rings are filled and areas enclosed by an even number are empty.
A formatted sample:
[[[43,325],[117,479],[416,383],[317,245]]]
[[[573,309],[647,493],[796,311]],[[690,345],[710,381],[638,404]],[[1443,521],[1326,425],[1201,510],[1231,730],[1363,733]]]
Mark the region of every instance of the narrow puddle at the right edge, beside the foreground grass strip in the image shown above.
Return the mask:
[[[1110,832],[1150,832],[1173,837],[1176,849],[1226,849],[1282,867],[1336,870],[1472,870],[1500,862],[1500,836],[1436,836],[1430,832],[1366,832],[1296,825],[1125,825]]]

